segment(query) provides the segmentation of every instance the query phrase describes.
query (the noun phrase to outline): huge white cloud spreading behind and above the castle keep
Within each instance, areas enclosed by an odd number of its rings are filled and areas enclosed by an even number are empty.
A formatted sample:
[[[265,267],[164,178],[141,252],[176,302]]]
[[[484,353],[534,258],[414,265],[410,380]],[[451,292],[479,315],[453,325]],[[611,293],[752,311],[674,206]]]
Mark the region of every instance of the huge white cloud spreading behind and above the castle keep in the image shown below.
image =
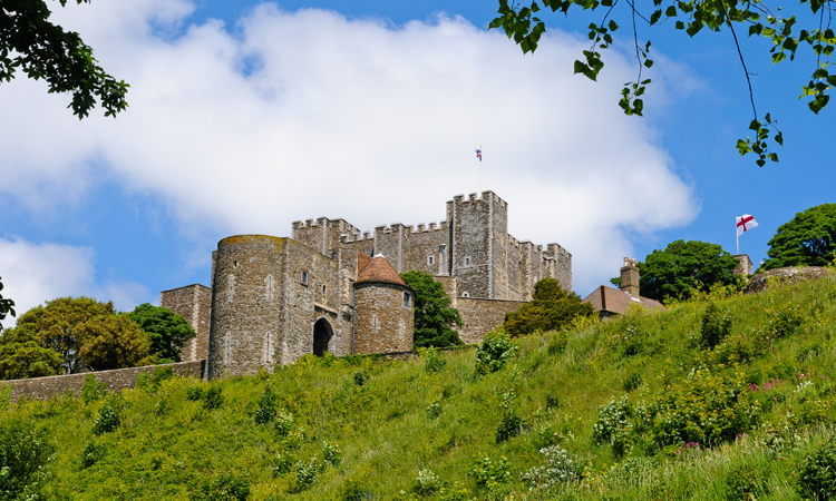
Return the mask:
[[[483,145],[483,188],[508,202],[512,234],[566,247],[581,293],[618,273],[628,234],[696,217],[647,119],[615,106],[634,78],[618,52],[593,84],[571,70],[587,42],[561,32],[523,57],[460,18],[392,28],[270,3],[233,32],[210,22],[173,36],[192,8],[114,0],[57,12],[130,82],[130,108],[78,122],[66,96],[4,85],[0,114],[19,120],[0,124],[11,179],[0,193],[58,206],[115,177],[162,195],[205,246],[207,230],[284,236],[291,220],[323,215],[363,229],[441,219],[447,199],[477,190]],[[664,86],[653,91],[664,101]]]

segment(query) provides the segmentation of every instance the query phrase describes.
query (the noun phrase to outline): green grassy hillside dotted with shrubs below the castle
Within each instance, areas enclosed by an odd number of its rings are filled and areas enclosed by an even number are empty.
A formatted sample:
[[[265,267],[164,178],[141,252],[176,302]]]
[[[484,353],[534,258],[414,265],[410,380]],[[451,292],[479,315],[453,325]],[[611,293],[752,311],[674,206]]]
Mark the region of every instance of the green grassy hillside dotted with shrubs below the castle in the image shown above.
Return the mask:
[[[473,348],[307,357],[2,420],[55,444],[48,499],[801,499],[833,435],[836,281],[721,296],[521,338],[482,376]]]

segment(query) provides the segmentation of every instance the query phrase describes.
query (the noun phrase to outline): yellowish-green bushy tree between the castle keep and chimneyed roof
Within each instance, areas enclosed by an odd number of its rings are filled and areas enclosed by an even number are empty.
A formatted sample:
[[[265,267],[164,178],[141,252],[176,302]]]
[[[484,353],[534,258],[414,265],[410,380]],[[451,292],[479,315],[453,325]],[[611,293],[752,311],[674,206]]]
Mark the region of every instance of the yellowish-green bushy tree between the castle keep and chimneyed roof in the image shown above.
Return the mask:
[[[566,292],[554,278],[543,278],[534,284],[534,295],[516,312],[505,315],[503,328],[513,336],[535,331],[557,331],[580,316],[592,316],[595,308],[583,303],[581,296]]]

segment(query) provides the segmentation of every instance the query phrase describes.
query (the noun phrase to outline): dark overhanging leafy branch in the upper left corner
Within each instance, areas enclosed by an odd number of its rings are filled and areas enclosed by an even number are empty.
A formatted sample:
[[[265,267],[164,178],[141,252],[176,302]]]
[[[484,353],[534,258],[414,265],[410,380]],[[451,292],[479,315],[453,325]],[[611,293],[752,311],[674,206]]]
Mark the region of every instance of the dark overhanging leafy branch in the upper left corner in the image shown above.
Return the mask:
[[[88,116],[97,98],[105,116],[116,117],[128,106],[129,86],[98,66],[78,33],[49,22],[50,13],[45,0],[0,1],[0,82],[11,81],[20,69],[29,78],[45,79],[50,94],[71,92],[68,108],[79,119]]]

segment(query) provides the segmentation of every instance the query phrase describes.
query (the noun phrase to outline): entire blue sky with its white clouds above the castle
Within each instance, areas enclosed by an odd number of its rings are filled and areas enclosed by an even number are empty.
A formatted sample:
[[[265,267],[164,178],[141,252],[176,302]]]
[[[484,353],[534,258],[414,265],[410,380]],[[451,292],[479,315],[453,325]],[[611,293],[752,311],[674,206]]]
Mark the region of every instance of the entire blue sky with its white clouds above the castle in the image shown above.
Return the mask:
[[[57,8],[57,2],[56,2]],[[0,276],[26,311],[64,295],[158,302],[208,284],[211,252],[241,233],[343,217],[363,229],[444,218],[483,188],[509,204],[511,233],[557,242],[586,295],[674,239],[754,262],[781,224],[832,203],[832,110],[798,100],[815,61],[774,67],[743,41],[759,112],[784,130],[780,164],[733,149],[751,119],[728,32],[647,29],[654,84],[624,117],[634,78],[626,19],[599,82],[572,76],[581,13],[545,14],[535,55],[487,23],[493,1],[97,0],[57,9],[103,66],[132,85],[116,120],[79,121],[67,96],[22,76],[0,86]]]

